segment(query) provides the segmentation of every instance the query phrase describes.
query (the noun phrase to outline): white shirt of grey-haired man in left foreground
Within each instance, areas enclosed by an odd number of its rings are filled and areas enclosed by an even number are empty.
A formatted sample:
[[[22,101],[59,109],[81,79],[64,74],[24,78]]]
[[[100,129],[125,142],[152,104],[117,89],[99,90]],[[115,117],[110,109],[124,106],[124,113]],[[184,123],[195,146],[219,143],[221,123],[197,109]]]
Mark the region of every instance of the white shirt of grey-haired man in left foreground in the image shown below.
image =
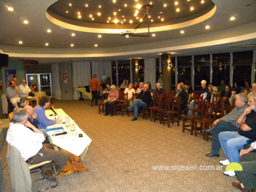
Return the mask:
[[[24,161],[38,153],[43,147],[43,140],[43,134],[33,132],[23,124],[10,123],[6,142],[18,149]]]

